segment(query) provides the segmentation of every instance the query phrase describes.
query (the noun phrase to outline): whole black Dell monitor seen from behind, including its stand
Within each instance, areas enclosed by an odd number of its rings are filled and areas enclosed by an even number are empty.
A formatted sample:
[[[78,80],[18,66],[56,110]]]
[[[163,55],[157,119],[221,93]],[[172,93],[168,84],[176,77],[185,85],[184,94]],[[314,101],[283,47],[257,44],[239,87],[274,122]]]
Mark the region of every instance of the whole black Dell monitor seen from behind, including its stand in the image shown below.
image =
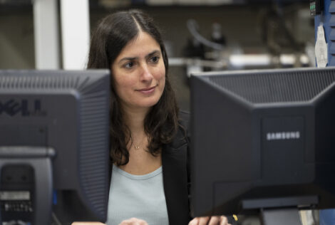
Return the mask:
[[[1,219],[105,221],[108,70],[0,70]],[[18,223],[19,224],[19,223]]]

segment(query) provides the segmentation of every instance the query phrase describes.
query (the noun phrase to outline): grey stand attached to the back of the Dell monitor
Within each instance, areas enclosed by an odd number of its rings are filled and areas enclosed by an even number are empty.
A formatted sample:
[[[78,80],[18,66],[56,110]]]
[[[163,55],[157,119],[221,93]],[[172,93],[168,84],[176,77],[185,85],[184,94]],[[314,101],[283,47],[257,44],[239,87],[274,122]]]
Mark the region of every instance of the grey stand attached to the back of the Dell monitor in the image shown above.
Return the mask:
[[[2,174],[3,168],[8,165],[29,166],[33,169],[34,197],[31,197],[31,200],[34,225],[51,223],[53,199],[51,160],[54,156],[55,151],[47,147],[0,147],[0,180],[5,175]],[[0,224],[2,224],[1,217],[0,215]]]

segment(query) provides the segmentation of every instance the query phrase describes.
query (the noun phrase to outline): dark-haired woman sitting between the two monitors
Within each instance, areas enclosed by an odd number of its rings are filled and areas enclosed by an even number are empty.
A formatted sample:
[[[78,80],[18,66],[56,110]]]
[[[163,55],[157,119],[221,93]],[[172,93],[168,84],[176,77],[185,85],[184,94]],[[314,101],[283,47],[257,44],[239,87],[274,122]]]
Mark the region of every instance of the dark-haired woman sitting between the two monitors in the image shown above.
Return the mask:
[[[178,112],[153,20],[137,10],[105,17],[93,33],[88,68],[112,75],[107,224],[188,224],[187,113]],[[227,219],[190,224],[208,222]]]

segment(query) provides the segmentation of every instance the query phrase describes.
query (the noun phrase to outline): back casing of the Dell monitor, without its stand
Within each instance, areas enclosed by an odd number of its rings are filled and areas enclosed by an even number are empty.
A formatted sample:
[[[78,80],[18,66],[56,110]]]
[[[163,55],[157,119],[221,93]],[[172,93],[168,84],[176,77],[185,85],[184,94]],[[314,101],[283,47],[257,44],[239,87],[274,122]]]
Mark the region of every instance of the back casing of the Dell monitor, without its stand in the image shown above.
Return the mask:
[[[108,70],[0,70],[0,147],[54,150],[53,211],[63,222],[107,218],[109,79]]]

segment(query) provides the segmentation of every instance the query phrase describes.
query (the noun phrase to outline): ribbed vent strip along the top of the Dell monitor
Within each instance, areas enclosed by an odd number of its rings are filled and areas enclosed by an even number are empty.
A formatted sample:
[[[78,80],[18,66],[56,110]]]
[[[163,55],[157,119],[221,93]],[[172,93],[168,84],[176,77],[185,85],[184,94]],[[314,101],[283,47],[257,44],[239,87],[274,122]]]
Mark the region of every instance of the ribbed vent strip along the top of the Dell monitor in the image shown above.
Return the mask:
[[[41,77],[39,75],[17,76],[8,75],[0,77],[0,88],[4,89],[66,89],[76,88],[80,90],[88,80],[87,76],[83,75],[83,78],[78,76],[55,76]]]

